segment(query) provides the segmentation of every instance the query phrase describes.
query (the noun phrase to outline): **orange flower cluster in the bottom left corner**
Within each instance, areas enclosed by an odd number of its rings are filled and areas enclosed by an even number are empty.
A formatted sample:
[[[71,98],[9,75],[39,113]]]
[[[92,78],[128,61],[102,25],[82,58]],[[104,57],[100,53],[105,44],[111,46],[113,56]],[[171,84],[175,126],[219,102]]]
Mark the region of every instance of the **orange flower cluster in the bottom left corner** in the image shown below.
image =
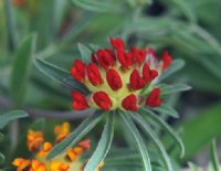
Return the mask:
[[[61,142],[70,135],[70,124],[64,122],[54,128],[56,141]],[[29,130],[27,136],[28,149],[35,153],[34,159],[17,158],[12,162],[17,171],[82,171],[84,163],[80,161],[83,152],[90,150],[90,140],[83,140],[74,148],[69,148],[65,153],[60,154],[53,160],[48,160],[46,156],[53,148],[51,142],[45,141],[42,131]],[[104,165],[102,162],[97,171]]]

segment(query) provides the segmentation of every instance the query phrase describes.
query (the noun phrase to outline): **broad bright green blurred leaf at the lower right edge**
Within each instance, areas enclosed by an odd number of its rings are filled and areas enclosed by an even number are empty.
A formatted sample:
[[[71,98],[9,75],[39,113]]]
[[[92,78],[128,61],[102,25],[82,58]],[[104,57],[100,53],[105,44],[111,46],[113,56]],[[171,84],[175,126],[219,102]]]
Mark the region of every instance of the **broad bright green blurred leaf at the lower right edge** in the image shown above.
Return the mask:
[[[192,157],[214,137],[221,135],[221,104],[218,103],[196,114],[193,118],[180,122],[183,128],[182,140],[186,147],[183,161]]]

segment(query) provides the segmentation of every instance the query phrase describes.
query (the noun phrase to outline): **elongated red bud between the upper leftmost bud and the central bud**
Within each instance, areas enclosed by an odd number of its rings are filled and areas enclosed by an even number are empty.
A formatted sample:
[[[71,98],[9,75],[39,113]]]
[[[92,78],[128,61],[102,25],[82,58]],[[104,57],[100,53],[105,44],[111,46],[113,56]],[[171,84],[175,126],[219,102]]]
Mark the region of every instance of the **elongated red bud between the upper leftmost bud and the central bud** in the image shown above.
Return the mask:
[[[86,66],[86,72],[90,82],[94,85],[101,85],[103,83],[102,75],[96,64],[92,63]]]

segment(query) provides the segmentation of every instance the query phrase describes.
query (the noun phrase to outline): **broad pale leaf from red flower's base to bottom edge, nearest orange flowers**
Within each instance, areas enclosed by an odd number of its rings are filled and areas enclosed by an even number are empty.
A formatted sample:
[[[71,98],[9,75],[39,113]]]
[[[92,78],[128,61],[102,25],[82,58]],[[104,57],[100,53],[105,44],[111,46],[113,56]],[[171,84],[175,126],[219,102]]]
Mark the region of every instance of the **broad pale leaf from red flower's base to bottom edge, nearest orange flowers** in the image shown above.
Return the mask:
[[[105,159],[109,148],[112,146],[113,136],[114,136],[114,118],[115,114],[109,113],[108,118],[106,120],[106,125],[104,127],[102,138],[94,151],[93,156],[88,160],[84,171],[96,170],[98,164]]]

